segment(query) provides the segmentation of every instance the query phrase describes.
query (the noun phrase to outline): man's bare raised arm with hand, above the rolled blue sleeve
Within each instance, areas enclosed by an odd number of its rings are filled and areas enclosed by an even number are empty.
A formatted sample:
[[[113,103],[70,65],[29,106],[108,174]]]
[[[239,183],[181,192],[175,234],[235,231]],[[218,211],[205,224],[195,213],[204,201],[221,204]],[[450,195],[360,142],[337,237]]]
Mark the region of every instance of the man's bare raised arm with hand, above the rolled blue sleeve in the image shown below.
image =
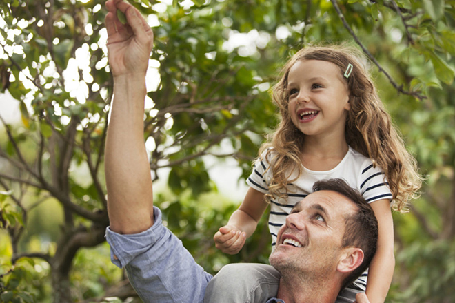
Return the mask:
[[[139,233],[152,226],[150,166],[143,138],[145,72],[153,33],[138,10],[122,0],[106,2],[108,59],[114,76],[114,98],[105,146],[110,229]],[[117,18],[117,9],[128,23]]]

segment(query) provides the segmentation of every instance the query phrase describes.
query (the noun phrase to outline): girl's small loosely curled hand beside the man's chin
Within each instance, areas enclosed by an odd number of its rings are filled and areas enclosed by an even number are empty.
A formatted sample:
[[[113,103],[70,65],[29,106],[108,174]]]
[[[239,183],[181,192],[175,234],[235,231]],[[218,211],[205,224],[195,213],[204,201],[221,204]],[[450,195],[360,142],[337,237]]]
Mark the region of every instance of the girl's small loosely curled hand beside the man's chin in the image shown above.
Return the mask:
[[[215,247],[223,253],[235,255],[239,253],[246,241],[246,233],[239,231],[233,225],[220,227],[213,237]]]

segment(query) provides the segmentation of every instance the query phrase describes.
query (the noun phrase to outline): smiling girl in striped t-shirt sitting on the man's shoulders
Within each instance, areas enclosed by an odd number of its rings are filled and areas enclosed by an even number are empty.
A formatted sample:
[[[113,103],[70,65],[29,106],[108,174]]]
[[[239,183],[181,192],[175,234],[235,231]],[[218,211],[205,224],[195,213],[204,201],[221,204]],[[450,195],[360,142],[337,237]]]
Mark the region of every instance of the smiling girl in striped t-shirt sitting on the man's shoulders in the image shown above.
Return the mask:
[[[314,182],[344,178],[371,203],[379,228],[370,272],[350,287],[354,295],[366,291],[371,302],[384,302],[395,265],[391,201],[405,211],[421,178],[358,58],[356,50],[333,45],[303,48],[287,62],[273,90],[281,122],[259,151],[245,200],[214,240],[221,251],[238,253],[270,204],[273,246]]]

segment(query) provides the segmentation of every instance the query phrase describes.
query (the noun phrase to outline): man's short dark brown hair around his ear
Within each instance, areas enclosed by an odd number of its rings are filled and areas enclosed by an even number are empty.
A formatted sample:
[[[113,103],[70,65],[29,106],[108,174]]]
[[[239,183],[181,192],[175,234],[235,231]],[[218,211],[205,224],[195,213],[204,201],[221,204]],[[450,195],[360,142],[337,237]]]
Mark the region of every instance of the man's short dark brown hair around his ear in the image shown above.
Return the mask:
[[[330,190],[342,194],[357,206],[357,212],[345,218],[345,233],[343,247],[357,247],[363,251],[363,262],[343,281],[343,288],[351,284],[363,273],[374,254],[378,242],[378,221],[374,216],[372,207],[365,198],[356,190],[347,185],[343,179],[320,180],[313,185],[313,191]]]

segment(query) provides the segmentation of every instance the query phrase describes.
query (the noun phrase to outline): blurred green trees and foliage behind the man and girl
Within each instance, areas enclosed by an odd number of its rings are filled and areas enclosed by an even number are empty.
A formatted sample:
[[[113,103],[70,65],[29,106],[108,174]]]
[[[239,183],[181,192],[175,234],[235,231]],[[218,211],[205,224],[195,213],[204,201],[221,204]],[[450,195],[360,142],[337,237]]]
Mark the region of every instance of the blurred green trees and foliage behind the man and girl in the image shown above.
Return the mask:
[[[381,98],[427,176],[410,213],[394,213],[387,302],[455,302],[455,1],[131,3],[156,36],[144,120],[150,169],[167,185],[156,204],[207,271],[267,262],[270,253],[265,220],[238,255],[214,249],[214,232],[240,200],[219,192],[208,157],[235,159],[244,182],[276,125],[268,90],[285,60],[306,43],[346,41],[370,57]],[[0,87],[21,110],[19,123],[1,118],[1,302],[139,302],[103,238],[112,94],[103,5],[0,3]]]

